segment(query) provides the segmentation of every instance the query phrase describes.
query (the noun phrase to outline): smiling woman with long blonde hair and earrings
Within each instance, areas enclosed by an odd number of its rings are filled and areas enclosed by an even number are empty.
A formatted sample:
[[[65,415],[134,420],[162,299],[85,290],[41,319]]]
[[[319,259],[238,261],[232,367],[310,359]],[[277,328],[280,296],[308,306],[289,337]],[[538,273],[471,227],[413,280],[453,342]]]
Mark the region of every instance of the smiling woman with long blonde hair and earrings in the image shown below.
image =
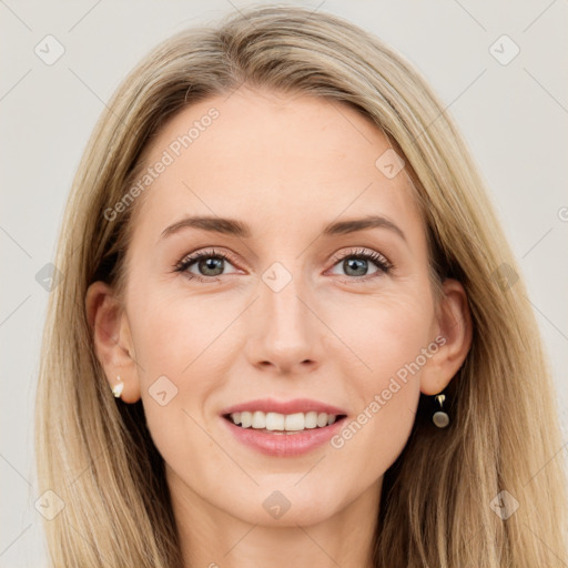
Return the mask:
[[[566,564],[519,268],[376,38],[264,7],[162,43],[93,133],[55,263],[53,566]]]

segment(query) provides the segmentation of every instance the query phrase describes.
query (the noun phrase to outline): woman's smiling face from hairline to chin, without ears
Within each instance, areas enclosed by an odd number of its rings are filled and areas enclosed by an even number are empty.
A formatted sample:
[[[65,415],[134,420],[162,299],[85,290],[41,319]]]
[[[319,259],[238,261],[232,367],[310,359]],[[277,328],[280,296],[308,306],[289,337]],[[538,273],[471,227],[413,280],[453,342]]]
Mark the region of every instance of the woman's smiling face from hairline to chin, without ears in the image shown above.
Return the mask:
[[[438,332],[389,148],[344,104],[245,89],[183,110],[149,146],[124,322],[174,500],[292,526],[378,491]],[[348,224],[373,215],[387,222]],[[224,416],[241,405],[258,428]],[[335,423],[314,428],[326,409]]]

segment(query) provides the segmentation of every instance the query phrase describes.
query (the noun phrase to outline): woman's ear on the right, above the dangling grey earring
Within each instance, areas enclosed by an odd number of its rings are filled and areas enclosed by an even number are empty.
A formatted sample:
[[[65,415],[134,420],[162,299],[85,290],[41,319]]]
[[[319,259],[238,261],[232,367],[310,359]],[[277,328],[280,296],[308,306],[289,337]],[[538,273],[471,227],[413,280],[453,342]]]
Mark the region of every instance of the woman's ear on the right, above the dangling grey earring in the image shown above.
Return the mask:
[[[471,346],[471,315],[460,282],[446,278],[437,306],[435,328],[440,347],[423,367],[420,392],[436,395],[444,390],[464,363]],[[444,343],[443,343],[444,342]]]

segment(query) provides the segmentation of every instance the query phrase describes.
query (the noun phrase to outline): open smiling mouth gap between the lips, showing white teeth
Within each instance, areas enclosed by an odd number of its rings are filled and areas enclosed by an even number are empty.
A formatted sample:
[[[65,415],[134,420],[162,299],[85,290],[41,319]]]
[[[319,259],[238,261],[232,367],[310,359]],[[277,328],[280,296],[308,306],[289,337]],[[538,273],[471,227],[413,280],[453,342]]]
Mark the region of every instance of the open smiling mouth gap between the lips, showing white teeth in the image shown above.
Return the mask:
[[[280,414],[262,410],[244,410],[224,414],[231,424],[258,433],[293,435],[307,430],[321,430],[346,418],[345,414],[328,414],[311,410],[307,413]]]

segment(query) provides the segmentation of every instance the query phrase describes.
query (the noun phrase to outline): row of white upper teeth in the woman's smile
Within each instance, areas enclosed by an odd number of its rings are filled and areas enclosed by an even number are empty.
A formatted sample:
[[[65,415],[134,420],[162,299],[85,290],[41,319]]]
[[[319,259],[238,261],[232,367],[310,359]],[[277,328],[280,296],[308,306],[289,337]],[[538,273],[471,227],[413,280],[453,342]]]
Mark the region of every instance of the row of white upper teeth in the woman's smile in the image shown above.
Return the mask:
[[[298,432],[312,428],[323,428],[331,425],[337,417],[327,413],[296,413],[296,414],[278,414],[242,412],[231,414],[234,424],[241,425],[243,428],[267,429],[267,430],[287,430]]]

